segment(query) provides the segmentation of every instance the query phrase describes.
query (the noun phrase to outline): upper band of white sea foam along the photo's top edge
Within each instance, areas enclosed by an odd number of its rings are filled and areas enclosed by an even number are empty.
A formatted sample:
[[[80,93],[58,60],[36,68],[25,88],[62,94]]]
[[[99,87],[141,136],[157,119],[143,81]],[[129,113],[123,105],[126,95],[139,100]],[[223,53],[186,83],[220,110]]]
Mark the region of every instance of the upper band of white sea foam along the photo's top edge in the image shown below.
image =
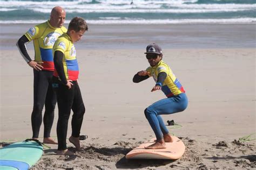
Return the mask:
[[[93,12],[95,10],[101,11],[111,11],[117,12],[114,10],[129,10],[126,12],[138,12],[140,10],[145,11],[146,9],[158,9],[158,10],[251,10],[256,9],[256,4],[184,4],[185,1],[138,1],[136,4],[130,5],[130,1],[102,1],[100,4],[84,4],[82,1],[45,1],[45,2],[31,2],[31,1],[1,1],[0,9],[4,8],[6,10],[15,9],[37,9],[40,12],[49,12],[52,9],[52,6],[62,5],[66,10],[77,10],[81,9],[90,10]],[[192,1],[190,1],[192,2]],[[122,5],[120,5],[122,4]],[[163,7],[163,5],[165,5]],[[166,9],[167,8],[167,9]],[[119,11],[118,11],[119,12]]]

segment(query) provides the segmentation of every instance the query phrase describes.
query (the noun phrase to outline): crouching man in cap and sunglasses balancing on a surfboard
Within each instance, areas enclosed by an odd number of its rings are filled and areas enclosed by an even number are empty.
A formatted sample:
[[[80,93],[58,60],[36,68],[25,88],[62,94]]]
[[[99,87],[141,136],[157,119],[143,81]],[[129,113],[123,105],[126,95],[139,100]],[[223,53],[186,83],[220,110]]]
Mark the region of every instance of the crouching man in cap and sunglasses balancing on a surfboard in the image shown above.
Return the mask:
[[[162,60],[161,48],[157,44],[150,44],[146,47],[145,54],[150,67],[134,75],[133,82],[139,83],[152,76],[156,85],[151,91],[162,90],[167,97],[151,104],[144,111],[157,137],[156,143],[145,148],[166,148],[165,142],[172,142],[172,137],[160,115],[170,115],[185,110],[188,103],[187,96],[171,68]]]

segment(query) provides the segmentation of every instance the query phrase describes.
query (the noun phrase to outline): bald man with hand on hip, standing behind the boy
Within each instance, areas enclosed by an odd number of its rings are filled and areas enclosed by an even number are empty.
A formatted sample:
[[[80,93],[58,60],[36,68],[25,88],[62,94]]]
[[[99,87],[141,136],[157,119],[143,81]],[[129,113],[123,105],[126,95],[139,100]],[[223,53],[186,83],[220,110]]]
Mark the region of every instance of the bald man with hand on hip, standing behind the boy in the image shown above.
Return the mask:
[[[65,10],[60,6],[56,6],[51,11],[50,20],[30,28],[16,44],[26,63],[33,68],[32,138],[38,139],[43,119],[43,143],[46,144],[57,144],[56,141],[50,137],[54,109],[57,101],[51,82],[54,70],[52,47],[57,38],[67,31],[63,26],[65,17]],[[25,45],[32,40],[35,48],[35,60],[31,60]],[[42,110],[44,105],[45,112],[43,117]]]

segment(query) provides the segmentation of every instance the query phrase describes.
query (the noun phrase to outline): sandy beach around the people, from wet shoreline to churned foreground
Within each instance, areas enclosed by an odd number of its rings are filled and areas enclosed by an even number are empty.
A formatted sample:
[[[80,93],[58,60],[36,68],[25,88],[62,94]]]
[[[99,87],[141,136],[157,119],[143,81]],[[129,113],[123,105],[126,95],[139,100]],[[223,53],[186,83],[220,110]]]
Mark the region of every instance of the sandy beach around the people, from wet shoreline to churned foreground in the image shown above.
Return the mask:
[[[22,141],[32,134],[32,69],[15,47],[31,25],[10,30],[13,26],[1,25],[1,144]],[[31,169],[256,167],[256,140],[238,141],[250,134],[248,139],[255,139],[254,24],[165,25],[162,29],[150,25],[146,31],[143,25],[136,25],[137,30],[131,25],[103,27],[92,25],[77,44],[79,86],[86,107],[81,134],[89,137],[81,141],[83,151],[60,156],[55,154],[57,146],[49,145],[51,149],[45,148]],[[217,33],[218,29],[221,31]],[[10,39],[4,37],[8,34]],[[132,82],[134,74],[149,66],[144,52],[151,42],[162,46],[163,60],[188,96],[185,111],[163,116],[165,122],[173,119],[179,125],[167,126],[186,145],[179,160],[125,159],[132,148],[154,137],[144,109],[165,97],[161,91],[150,91],[153,79]],[[33,56],[31,44],[28,49]],[[56,140],[57,113],[56,108],[51,132]],[[71,124],[68,137],[70,134]],[[75,151],[72,144],[68,146]]]

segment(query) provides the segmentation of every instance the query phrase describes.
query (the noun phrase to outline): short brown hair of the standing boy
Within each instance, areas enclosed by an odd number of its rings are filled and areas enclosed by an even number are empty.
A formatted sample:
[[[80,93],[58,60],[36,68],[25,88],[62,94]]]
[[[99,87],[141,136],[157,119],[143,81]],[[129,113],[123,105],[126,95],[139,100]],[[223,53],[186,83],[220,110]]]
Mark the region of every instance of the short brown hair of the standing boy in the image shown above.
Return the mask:
[[[76,32],[79,32],[80,30],[87,31],[88,26],[83,18],[75,17],[69,23],[68,31],[70,30],[74,30]]]

